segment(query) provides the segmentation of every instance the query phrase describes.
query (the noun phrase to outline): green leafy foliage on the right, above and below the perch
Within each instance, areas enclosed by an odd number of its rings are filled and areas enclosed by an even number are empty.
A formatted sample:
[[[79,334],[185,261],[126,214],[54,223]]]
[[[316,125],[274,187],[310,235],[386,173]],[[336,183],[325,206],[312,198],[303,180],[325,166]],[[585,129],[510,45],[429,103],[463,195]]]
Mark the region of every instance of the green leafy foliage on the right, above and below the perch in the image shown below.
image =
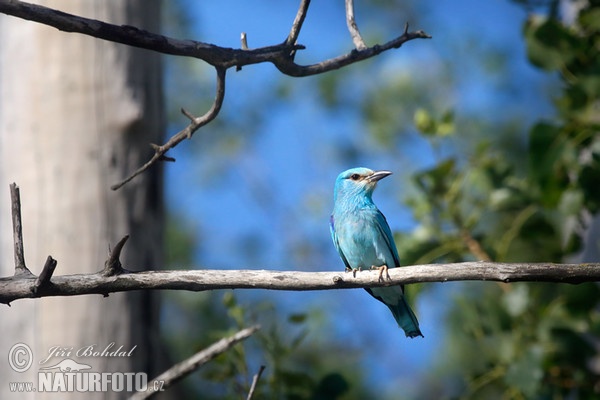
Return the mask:
[[[527,22],[531,62],[561,74],[559,118],[534,124],[517,157],[519,147],[481,138],[417,173],[407,204],[420,225],[399,238],[406,262],[563,262],[581,250],[583,216],[600,211],[599,20],[600,5],[590,2],[572,26]],[[415,116],[430,140],[443,122]],[[440,146],[437,136],[432,146]],[[526,170],[516,158],[527,160]],[[446,362],[432,375],[453,376],[449,398],[596,398],[599,306],[594,283],[463,284],[448,316]]]

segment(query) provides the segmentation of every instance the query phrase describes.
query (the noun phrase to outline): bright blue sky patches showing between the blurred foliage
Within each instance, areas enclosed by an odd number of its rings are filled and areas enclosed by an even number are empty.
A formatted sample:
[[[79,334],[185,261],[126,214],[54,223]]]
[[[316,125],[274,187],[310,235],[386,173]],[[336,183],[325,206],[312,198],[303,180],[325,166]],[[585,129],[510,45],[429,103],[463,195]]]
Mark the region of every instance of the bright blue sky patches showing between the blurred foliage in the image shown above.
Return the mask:
[[[297,7],[296,2],[275,0],[186,4],[194,39],[228,47],[239,47],[241,32],[247,33],[250,47],[283,41]],[[359,4],[356,11],[367,41],[397,36],[406,22],[402,15],[361,14]],[[361,96],[378,79],[391,75],[436,79],[438,71],[450,71],[452,83],[439,93],[439,102],[454,109],[459,125],[480,115],[490,123],[510,118],[531,122],[550,115],[553,81],[527,63],[521,37],[526,18],[522,8],[508,0],[429,0],[418,2],[409,15],[417,19],[408,21],[411,29],[424,29],[433,39],[413,41],[380,55],[371,62],[368,76],[365,69],[349,67],[344,75],[347,93]],[[343,2],[313,1],[299,42],[307,46],[296,58],[299,63],[318,62],[351,50]],[[481,54],[489,57],[484,60]],[[501,57],[496,57],[498,54]],[[212,96],[212,71],[198,66],[198,73],[189,77],[190,82],[201,82],[208,91],[205,95]],[[356,109],[323,107],[317,79],[284,77],[272,65],[230,70],[218,118],[235,121],[243,113],[240,110],[260,108],[264,101],[268,112],[261,114],[257,132],[245,132],[243,124],[238,126],[240,138],[234,146],[241,146],[242,151],[216,159],[217,152],[211,149],[219,149],[219,145],[203,139],[211,135],[209,125],[194,136],[193,145],[184,142],[170,154],[177,163],[166,166],[168,207],[197,232],[196,265],[216,269],[343,268],[330,243],[328,217],[335,177],[358,166],[342,157],[339,148],[345,142],[360,149],[354,157],[356,163],[395,172],[380,183],[374,200],[392,230],[414,228],[410,211],[399,200],[403,191],[410,190],[406,176],[432,162],[431,149],[407,124],[405,138],[410,148],[399,146],[396,154],[385,151],[369,139]],[[291,91],[292,98],[270,102],[266,93],[282,86]],[[180,103],[182,98],[187,97],[171,92],[167,100],[175,103],[174,107],[190,109],[191,105]],[[172,121],[171,132],[183,124],[184,118]],[[291,254],[290,249],[302,246],[310,251]],[[248,250],[252,248],[254,251]],[[440,361],[436,356],[443,345],[444,312],[452,292],[460,286],[431,286],[416,306],[425,339],[413,340],[404,338],[389,311],[362,290],[238,295],[267,296],[291,312],[320,309],[335,327],[332,335],[349,346],[369,349],[364,366],[383,393],[393,394],[399,388],[411,393],[419,376]]]

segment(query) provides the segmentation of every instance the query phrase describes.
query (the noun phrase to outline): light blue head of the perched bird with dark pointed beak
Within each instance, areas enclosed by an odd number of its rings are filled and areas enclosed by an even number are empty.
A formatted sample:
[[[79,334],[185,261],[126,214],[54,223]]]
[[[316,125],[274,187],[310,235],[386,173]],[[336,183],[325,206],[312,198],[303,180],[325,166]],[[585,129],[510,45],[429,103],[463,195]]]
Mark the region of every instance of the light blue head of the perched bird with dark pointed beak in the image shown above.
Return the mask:
[[[373,171],[369,168],[351,168],[335,180],[334,201],[338,199],[364,199],[371,202],[373,190],[380,179],[391,175],[390,171]]]

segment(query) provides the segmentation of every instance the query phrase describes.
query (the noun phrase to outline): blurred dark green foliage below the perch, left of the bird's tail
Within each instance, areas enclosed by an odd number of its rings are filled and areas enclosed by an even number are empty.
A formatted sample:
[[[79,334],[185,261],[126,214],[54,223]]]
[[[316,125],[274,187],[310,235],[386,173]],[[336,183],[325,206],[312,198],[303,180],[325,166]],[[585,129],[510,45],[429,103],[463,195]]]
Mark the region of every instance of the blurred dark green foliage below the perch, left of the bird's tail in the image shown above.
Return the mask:
[[[214,331],[215,337],[259,322],[259,315],[277,314],[269,303],[242,304],[233,292],[226,292],[223,305],[233,326]],[[352,369],[356,355],[331,342],[305,339],[316,319],[307,314],[290,314],[261,322],[261,329],[247,341],[220,355],[206,367],[204,377],[227,388],[221,399],[239,399],[248,393],[252,375],[258,365],[266,366],[255,397],[268,399],[360,399],[372,396],[360,386],[357,371]],[[282,323],[281,321],[285,321]],[[323,357],[336,354],[336,357]],[[232,384],[233,382],[233,384]],[[355,382],[359,382],[358,384]]]

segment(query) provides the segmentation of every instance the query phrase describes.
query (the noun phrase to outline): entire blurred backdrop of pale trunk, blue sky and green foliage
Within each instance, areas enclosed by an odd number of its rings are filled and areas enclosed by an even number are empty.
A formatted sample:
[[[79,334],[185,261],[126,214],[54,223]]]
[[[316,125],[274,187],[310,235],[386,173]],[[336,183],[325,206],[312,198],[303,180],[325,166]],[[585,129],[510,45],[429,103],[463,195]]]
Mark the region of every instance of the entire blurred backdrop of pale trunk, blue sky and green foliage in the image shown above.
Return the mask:
[[[283,42],[298,7],[43,3],[233,48],[242,32],[250,48]],[[393,172],[374,201],[404,265],[597,262],[600,3],[371,0],[357,2],[355,15],[367,45],[401,35],[405,23],[433,38],[307,78],[270,64],[230,69],[218,118],[169,152],[177,162],[117,192],[110,185],[147,160],[147,143],[187,125],[182,107],[196,115],[210,107],[214,69],[0,15],[0,190],[22,188],[32,272],[48,254],[57,274],[96,272],[125,234],[131,270],[341,271],[329,233],[333,185],[357,166]],[[343,2],[313,1],[298,41],[306,46],[299,64],[351,51]],[[14,273],[9,206],[2,197],[3,277]],[[424,338],[406,338],[364,290],[19,300],[0,308],[0,354],[28,344],[39,368],[51,346],[115,342],[136,346],[135,356],[78,361],[155,376],[259,323],[164,398],[246,398],[261,365],[256,399],[600,397],[596,283],[452,282],[406,292]],[[2,357],[0,397],[22,400],[9,382],[35,381],[38,368],[20,373]]]

